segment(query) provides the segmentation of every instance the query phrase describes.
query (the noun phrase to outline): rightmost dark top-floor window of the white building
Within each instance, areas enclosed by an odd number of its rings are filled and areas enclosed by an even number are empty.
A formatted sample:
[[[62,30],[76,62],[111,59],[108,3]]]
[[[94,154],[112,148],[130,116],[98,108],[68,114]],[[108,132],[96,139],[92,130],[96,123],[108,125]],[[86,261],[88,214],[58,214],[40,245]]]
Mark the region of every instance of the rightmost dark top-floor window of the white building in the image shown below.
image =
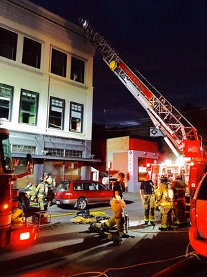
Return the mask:
[[[84,83],[84,68],[85,62],[81,59],[71,57],[71,75],[70,79],[80,83]]]

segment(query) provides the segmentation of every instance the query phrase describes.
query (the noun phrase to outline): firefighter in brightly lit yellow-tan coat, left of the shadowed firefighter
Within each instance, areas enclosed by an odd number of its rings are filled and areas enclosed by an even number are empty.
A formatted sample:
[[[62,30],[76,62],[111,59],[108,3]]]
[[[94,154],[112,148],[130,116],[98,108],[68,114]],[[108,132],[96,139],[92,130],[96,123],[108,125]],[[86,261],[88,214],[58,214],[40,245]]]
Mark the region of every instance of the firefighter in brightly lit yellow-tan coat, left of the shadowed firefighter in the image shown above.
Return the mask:
[[[161,227],[160,231],[168,231],[174,227],[173,191],[168,178],[162,176],[159,189],[155,189],[155,195],[160,198]]]

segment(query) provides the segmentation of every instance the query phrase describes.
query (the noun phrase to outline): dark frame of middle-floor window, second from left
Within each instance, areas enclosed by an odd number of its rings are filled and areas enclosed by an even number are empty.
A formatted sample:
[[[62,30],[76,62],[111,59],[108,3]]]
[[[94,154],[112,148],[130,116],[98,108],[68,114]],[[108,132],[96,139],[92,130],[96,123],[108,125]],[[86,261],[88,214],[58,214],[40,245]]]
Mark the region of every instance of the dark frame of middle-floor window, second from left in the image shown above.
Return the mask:
[[[32,101],[31,99],[27,99],[28,102],[30,103],[34,103],[34,124],[31,123],[27,123],[27,122],[21,122],[20,121],[20,117],[21,117],[21,113],[26,113],[29,114],[28,111],[24,110],[23,108],[21,108],[21,105],[23,103],[23,100],[26,101],[22,95],[23,93],[27,93],[27,94],[32,94],[35,95],[36,101]],[[20,124],[28,124],[28,125],[32,125],[32,126],[37,126],[37,115],[38,115],[38,104],[39,104],[39,93],[35,93],[34,91],[30,91],[30,90],[26,90],[24,88],[21,88],[21,93],[20,93],[20,103],[19,103],[19,123]],[[31,113],[31,112],[30,112]]]

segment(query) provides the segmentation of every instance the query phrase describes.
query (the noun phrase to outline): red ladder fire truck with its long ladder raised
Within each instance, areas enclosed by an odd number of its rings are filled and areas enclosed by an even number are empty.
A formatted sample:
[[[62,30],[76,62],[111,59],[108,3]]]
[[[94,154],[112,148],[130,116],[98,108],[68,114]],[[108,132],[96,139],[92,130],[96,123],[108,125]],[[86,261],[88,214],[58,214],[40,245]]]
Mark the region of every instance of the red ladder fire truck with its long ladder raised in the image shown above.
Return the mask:
[[[152,175],[154,169],[159,174],[161,171],[169,175],[173,172],[181,174],[188,184],[189,194],[193,196],[207,166],[206,152],[197,129],[138,70],[130,68],[88,20],[79,19],[79,23],[85,30],[86,38],[101,53],[110,70],[144,107],[155,128],[161,132],[165,142],[179,160],[179,163],[174,162],[174,166],[170,167],[152,165]]]

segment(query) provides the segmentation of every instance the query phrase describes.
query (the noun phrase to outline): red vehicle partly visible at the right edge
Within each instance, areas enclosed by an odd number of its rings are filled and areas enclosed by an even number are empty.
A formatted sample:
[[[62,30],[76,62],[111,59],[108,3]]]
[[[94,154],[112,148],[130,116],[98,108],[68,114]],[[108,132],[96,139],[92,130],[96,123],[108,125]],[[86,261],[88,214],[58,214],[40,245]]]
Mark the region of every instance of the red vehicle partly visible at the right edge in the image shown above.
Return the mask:
[[[190,245],[207,257],[207,173],[199,182],[190,205]]]

